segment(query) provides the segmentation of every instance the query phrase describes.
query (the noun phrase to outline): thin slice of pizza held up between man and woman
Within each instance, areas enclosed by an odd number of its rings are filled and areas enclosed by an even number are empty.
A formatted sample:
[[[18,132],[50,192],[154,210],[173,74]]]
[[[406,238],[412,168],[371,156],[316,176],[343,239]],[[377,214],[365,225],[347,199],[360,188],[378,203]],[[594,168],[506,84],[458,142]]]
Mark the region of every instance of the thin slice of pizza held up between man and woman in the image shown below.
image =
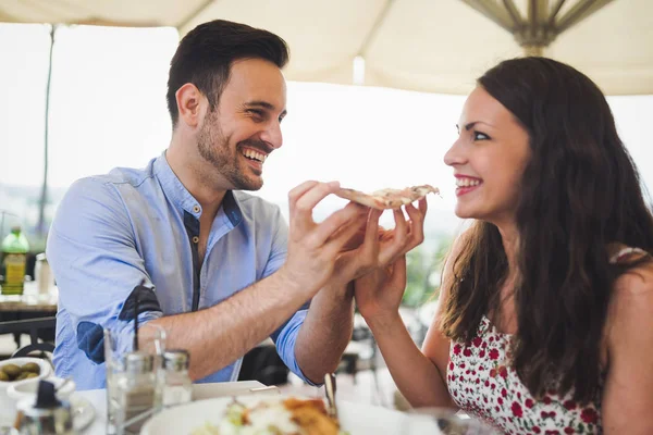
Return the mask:
[[[440,194],[440,190],[433,186],[424,184],[422,186],[406,187],[405,189],[382,189],[372,194],[366,194],[359,190],[340,188],[335,195],[358,202],[372,209],[398,209],[407,203],[415,202],[429,194]]]

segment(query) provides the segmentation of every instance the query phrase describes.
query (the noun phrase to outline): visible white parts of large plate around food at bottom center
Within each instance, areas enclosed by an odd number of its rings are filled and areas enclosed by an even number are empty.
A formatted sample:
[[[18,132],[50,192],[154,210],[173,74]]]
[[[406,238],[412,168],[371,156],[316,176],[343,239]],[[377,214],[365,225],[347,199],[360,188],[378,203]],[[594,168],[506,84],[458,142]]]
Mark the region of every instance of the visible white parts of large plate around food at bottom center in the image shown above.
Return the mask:
[[[251,406],[259,400],[270,400],[270,396],[250,395],[239,396],[237,399],[246,406]],[[207,422],[217,424],[232,400],[231,397],[220,397],[167,409],[148,420],[140,435],[189,435]],[[402,424],[405,421],[405,414],[402,412],[354,402],[338,402],[337,409],[342,430],[350,435],[402,433]]]

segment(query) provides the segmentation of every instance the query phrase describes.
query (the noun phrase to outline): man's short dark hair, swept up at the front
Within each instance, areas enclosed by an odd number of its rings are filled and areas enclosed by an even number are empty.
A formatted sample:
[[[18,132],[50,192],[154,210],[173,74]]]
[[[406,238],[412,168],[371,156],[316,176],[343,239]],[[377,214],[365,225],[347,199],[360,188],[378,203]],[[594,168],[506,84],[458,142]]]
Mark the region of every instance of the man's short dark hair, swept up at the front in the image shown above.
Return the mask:
[[[268,30],[224,20],[200,24],[182,39],[170,62],[167,100],[172,127],[180,116],[175,94],[185,84],[195,85],[214,110],[234,61],[263,59],[282,69],[288,58],[286,42]]]

